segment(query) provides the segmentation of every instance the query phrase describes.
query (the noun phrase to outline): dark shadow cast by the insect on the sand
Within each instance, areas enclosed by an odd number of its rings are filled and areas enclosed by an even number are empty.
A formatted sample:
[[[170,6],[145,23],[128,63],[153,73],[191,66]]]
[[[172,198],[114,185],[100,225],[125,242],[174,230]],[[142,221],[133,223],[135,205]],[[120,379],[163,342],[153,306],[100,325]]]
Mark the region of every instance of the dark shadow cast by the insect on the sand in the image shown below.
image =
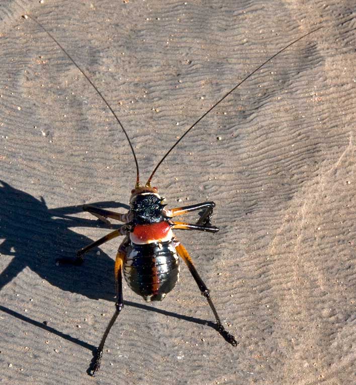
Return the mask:
[[[0,201],[2,202],[0,239],[4,240],[0,244],[0,258],[12,257],[11,260],[9,258],[8,266],[0,274],[0,290],[15,279],[22,270],[29,267],[41,278],[61,290],[79,293],[92,299],[114,301],[114,260],[106,253],[101,252],[100,256],[86,258],[81,266],[56,265],[56,259],[74,257],[75,250],[92,242],[90,238],[81,236],[70,228],[81,226],[108,228],[107,224],[99,220],[72,216],[82,211],[81,205],[49,209],[44,198],[37,199],[2,180],[0,180]],[[101,207],[128,208],[126,204],[113,201],[95,204]],[[124,304],[168,317],[208,325],[215,329],[215,324],[211,321],[155,309],[150,305],[132,301],[124,301]],[[85,348],[93,351],[96,349],[90,344],[56,331],[7,307],[0,306],[0,310]]]

